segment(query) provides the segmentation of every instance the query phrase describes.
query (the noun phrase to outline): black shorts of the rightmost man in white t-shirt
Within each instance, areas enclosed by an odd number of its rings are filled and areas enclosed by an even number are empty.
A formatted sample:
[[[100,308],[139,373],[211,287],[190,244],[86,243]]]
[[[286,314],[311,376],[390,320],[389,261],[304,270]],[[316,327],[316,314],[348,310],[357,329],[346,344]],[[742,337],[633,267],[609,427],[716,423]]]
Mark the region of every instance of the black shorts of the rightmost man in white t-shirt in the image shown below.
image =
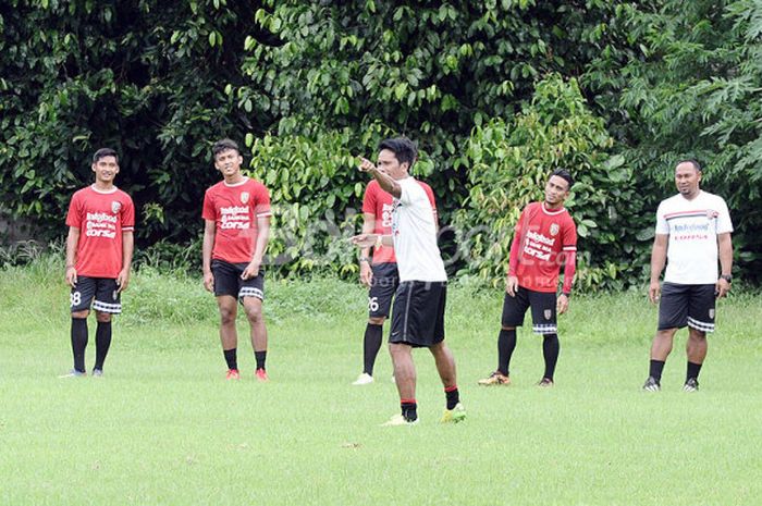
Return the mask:
[[[688,325],[701,332],[714,332],[715,285],[664,283],[659,303],[659,330]]]

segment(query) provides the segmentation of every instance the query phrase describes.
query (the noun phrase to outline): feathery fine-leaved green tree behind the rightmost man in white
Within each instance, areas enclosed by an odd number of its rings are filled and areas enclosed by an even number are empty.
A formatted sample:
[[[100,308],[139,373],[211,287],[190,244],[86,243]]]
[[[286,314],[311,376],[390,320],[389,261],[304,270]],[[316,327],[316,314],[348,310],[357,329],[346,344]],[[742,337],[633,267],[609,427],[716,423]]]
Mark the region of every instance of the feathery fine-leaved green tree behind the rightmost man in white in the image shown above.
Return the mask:
[[[641,194],[653,209],[673,192],[675,161],[698,159],[702,186],[730,208],[742,272],[759,282],[762,2],[627,2],[615,22],[637,50],[612,40],[586,82]]]

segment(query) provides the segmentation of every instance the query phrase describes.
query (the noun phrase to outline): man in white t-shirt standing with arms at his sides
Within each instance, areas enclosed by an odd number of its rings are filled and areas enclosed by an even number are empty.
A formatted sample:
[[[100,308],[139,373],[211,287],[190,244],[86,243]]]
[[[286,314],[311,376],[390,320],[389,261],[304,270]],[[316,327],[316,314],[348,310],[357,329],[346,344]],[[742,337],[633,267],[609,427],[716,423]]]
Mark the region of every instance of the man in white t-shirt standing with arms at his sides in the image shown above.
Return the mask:
[[[648,392],[661,390],[662,370],[675,332],[688,325],[688,371],[683,390],[699,390],[699,371],[706,356],[706,333],[714,331],[715,299],[730,289],[733,223],[722,197],[702,192],[701,165],[684,160],[675,168],[679,192],[656,211],[656,235],[651,252],[649,298],[659,304],[659,329],[651,346]],[[717,272],[717,257],[722,273]],[[666,263],[664,285],[659,277]]]

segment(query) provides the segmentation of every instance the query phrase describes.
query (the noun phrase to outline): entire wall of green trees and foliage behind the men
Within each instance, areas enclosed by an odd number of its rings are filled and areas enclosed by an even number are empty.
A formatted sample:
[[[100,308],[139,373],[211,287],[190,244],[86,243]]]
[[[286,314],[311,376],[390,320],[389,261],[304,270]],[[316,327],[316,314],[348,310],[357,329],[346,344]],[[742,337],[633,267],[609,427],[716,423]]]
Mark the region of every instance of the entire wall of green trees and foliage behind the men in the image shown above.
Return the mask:
[[[639,284],[672,168],[696,157],[730,205],[741,273],[762,272],[753,0],[10,0],[0,33],[0,214],[42,239],[111,145],[138,260],[197,267],[208,148],[230,136],[273,194],[276,271],[353,275],[337,239],[358,226],[354,157],[404,134],[451,271],[494,280],[519,206],[566,164],[582,286]],[[456,242],[477,233],[477,249]]]

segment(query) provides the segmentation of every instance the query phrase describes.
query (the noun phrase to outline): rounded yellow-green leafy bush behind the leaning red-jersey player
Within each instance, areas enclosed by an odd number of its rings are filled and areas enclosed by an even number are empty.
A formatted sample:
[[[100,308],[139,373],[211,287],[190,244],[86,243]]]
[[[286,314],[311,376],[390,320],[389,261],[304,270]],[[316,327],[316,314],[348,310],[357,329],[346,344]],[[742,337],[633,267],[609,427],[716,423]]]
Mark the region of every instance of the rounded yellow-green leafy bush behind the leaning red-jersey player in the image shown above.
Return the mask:
[[[543,198],[549,166],[565,166],[576,176],[567,207],[579,235],[578,285],[623,288],[626,279],[638,279],[642,263],[628,259],[642,258],[648,245],[630,231],[650,223],[637,225],[642,213],[631,173],[620,156],[609,155],[612,146],[576,81],[560,76],[540,82],[531,103],[509,123],[475,128],[463,161],[470,168],[470,193],[455,220],[467,271],[502,282],[520,210]]]

